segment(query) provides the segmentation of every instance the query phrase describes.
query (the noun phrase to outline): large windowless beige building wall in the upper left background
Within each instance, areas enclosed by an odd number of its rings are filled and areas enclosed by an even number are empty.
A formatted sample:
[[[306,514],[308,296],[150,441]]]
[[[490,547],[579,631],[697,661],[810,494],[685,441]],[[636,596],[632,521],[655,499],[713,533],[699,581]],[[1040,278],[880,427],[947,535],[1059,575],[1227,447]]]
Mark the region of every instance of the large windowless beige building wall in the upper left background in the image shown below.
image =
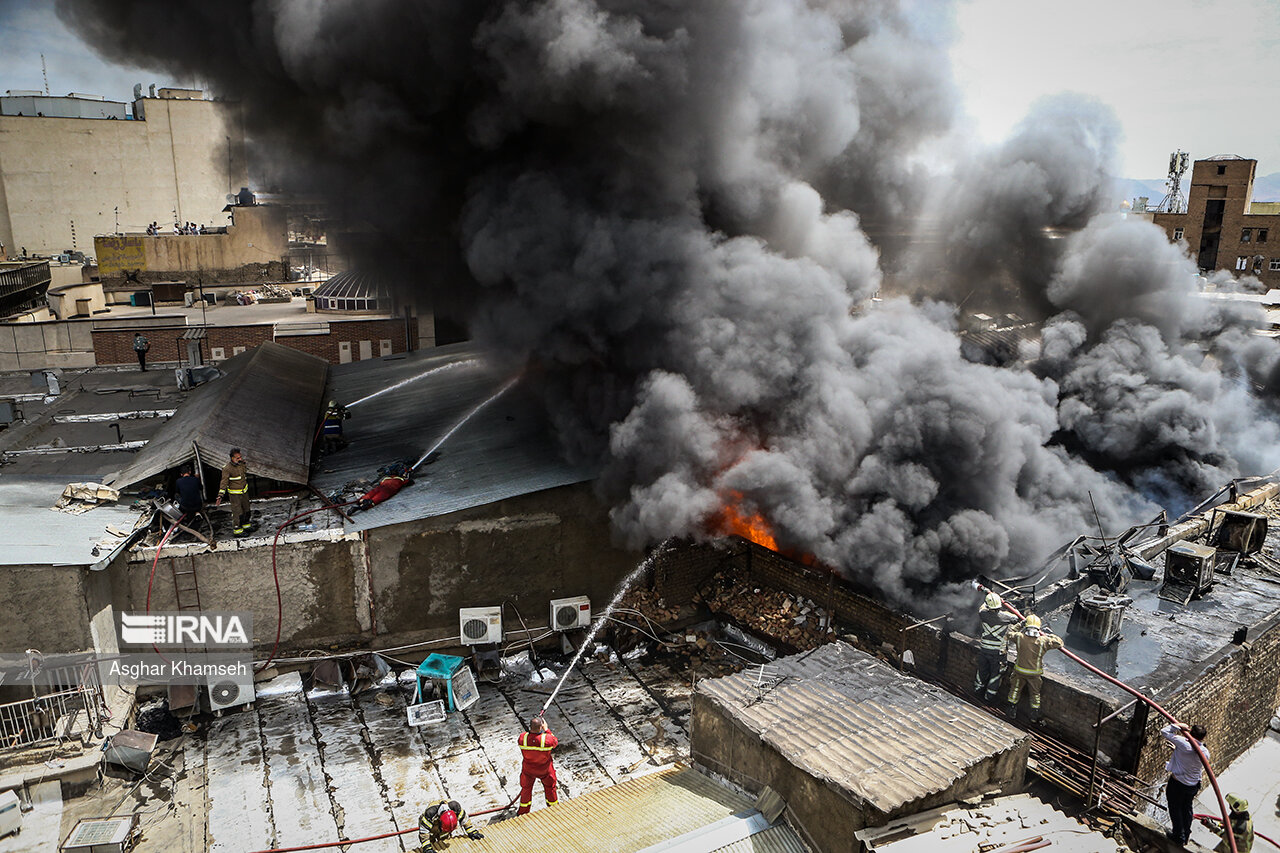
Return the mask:
[[[119,120],[101,109],[28,114],[27,100],[0,99],[0,243],[12,254],[83,251],[95,234],[151,222],[221,225],[227,193],[247,184],[236,104],[163,88]]]

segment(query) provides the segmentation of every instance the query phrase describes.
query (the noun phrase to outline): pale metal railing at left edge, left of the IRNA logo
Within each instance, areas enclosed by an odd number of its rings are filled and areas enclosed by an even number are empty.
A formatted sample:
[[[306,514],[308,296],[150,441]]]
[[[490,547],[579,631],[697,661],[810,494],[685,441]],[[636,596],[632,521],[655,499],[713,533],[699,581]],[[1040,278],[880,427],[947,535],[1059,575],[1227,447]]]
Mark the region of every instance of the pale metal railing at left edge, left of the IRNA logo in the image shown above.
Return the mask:
[[[61,740],[77,729],[101,731],[104,707],[97,666],[81,663],[41,672],[29,699],[0,704],[0,751]]]

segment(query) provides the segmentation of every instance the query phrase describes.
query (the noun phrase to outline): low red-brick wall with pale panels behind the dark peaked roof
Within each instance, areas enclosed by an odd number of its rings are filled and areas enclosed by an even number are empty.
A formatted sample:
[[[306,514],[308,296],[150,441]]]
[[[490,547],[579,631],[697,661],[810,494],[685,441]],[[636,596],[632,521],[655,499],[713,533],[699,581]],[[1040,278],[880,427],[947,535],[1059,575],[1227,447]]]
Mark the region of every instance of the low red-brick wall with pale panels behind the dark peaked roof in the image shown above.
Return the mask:
[[[141,330],[151,342],[151,351],[147,353],[148,361],[177,361],[179,347],[182,357],[186,359],[186,346],[178,338],[191,327],[170,328],[143,328],[137,329],[95,329],[93,353],[96,364],[132,364],[137,360],[133,353],[133,333]],[[411,318],[408,324],[410,341],[417,339],[417,318]],[[320,356],[329,364],[339,362],[339,343],[351,345],[352,360],[360,360],[360,342],[369,341],[372,345],[374,357],[379,357],[379,342],[390,341],[392,352],[404,352],[404,320],[401,318],[380,320],[342,320],[329,321],[328,334],[298,334],[274,337],[274,327],[270,324],[257,325],[211,325],[207,327],[205,338],[205,359],[212,359],[212,351],[221,348],[224,357],[230,359],[237,347],[252,350],[264,341],[276,343],[302,352]]]

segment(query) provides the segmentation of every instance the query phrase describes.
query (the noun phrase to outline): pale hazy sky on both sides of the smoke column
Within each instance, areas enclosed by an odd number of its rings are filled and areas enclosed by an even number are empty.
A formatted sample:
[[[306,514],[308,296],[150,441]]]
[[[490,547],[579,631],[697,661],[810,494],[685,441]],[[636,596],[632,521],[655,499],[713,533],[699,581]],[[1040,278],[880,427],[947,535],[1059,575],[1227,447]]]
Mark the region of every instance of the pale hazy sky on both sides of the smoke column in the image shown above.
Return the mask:
[[[934,0],[919,0],[927,9]],[[1124,126],[1119,174],[1164,177],[1169,152],[1239,154],[1280,172],[1280,3],[1276,0],[959,0],[951,50],[979,134],[1002,138],[1042,95],[1078,91]],[[134,83],[192,85],[108,65],[46,0],[0,0],[0,92],[129,100]]]

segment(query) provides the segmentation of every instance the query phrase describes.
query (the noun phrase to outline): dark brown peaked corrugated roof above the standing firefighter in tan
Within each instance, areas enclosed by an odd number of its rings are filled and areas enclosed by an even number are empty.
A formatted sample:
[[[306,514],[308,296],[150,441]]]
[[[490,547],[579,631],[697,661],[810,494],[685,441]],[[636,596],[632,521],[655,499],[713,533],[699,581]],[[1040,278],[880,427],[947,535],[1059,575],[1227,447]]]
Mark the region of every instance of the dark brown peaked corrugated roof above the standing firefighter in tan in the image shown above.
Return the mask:
[[[219,369],[224,375],[196,387],[111,485],[132,485],[193,459],[192,442],[205,465],[221,467],[239,447],[250,474],[307,482],[328,362],[268,341]]]

